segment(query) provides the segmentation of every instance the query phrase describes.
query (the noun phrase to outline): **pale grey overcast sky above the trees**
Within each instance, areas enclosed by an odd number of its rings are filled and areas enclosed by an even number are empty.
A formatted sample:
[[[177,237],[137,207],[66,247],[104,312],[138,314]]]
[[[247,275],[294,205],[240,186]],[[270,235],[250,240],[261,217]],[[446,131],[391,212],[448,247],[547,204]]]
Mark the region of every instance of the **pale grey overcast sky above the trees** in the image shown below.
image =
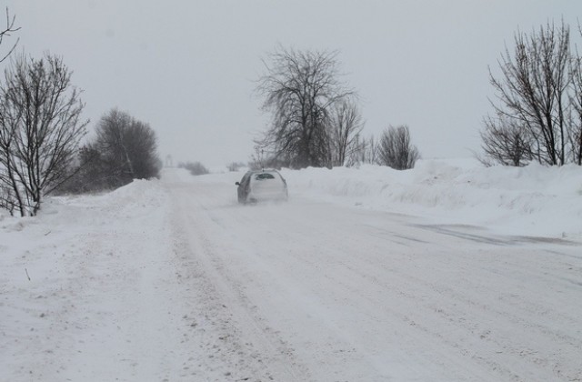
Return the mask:
[[[487,66],[517,28],[563,18],[580,41],[582,15],[580,0],[5,3],[20,50],[61,55],[73,70],[91,129],[117,107],[156,130],[163,158],[206,166],[253,154],[269,123],[256,79],[277,45],[339,51],[366,136],[406,124],[425,158],[472,156],[491,111]]]

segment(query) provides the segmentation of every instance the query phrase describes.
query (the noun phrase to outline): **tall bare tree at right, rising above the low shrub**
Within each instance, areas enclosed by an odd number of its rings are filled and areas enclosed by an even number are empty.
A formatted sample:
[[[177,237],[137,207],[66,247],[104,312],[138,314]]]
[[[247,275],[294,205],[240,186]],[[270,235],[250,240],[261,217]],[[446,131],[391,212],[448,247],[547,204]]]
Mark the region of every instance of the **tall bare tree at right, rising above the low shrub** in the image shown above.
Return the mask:
[[[500,78],[489,71],[500,121],[524,126],[536,147],[537,161],[561,166],[567,160],[567,64],[569,27],[548,24],[531,35],[515,35],[515,52],[506,49]],[[507,126],[507,129],[511,129]],[[510,145],[507,145],[510,146]]]

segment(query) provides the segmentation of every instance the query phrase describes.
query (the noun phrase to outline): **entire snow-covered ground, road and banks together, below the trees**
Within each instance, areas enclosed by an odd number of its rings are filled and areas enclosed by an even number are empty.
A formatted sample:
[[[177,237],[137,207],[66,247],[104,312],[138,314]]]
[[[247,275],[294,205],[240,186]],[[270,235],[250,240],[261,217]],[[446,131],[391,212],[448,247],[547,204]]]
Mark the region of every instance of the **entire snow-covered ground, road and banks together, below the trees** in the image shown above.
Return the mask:
[[[166,169],[0,215],[0,381],[580,381],[582,169]]]

